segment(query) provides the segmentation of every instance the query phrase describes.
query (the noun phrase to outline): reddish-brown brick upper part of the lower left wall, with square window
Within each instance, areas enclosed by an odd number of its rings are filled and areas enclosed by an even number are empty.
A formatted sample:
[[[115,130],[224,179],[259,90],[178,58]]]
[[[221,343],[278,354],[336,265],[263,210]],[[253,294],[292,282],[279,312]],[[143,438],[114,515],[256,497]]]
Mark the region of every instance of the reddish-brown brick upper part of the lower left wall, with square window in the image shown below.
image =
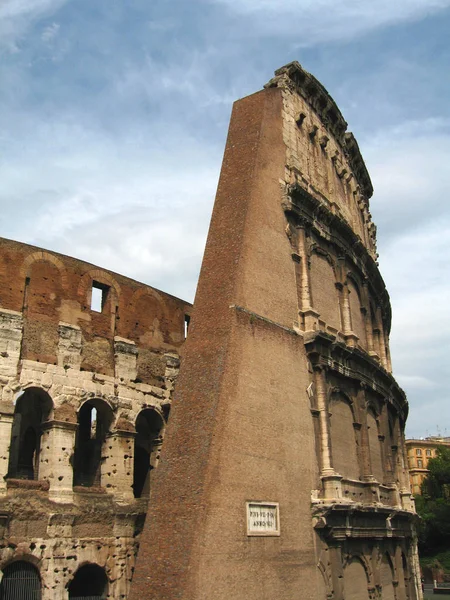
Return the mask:
[[[7,239],[0,239],[0,307],[23,316],[20,358],[114,375],[115,354],[137,356],[136,380],[149,384],[164,374],[161,353],[182,345],[191,309],[106,269]]]

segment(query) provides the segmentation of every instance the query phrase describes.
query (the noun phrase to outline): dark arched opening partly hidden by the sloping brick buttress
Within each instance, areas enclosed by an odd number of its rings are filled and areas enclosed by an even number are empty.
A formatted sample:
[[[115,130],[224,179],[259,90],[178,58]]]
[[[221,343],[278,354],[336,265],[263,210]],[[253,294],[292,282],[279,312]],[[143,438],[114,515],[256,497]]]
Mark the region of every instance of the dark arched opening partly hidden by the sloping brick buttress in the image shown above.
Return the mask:
[[[150,493],[150,472],[158,462],[164,425],[162,416],[152,408],[141,411],[136,419],[133,472],[135,498],[148,496]]]

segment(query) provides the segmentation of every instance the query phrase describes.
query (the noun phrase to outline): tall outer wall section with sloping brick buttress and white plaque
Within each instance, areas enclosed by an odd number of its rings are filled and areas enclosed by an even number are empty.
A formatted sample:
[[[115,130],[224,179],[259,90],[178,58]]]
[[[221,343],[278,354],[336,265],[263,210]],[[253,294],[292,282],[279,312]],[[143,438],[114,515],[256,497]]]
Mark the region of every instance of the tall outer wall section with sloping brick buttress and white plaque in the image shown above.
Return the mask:
[[[132,600],[421,598],[408,406],[346,128],[298,63],[234,105]],[[252,502],[277,534],[249,533]]]

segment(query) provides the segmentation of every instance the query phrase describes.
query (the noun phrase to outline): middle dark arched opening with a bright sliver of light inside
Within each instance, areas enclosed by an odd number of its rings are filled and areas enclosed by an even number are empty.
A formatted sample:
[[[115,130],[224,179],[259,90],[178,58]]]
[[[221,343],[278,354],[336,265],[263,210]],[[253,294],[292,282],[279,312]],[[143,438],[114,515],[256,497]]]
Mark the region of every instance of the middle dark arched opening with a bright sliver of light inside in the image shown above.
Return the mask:
[[[74,485],[101,485],[102,449],[112,420],[111,407],[103,400],[88,400],[80,408],[75,441]]]

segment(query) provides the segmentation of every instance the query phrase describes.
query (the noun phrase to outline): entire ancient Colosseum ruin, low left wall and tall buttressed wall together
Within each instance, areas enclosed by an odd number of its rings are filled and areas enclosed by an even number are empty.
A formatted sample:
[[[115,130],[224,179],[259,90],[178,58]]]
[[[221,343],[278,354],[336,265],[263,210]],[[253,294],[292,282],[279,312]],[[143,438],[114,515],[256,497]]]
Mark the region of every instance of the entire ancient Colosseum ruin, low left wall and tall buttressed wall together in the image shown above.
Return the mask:
[[[193,311],[1,240],[0,598],[420,600],[372,192],[294,62],[234,105]]]

